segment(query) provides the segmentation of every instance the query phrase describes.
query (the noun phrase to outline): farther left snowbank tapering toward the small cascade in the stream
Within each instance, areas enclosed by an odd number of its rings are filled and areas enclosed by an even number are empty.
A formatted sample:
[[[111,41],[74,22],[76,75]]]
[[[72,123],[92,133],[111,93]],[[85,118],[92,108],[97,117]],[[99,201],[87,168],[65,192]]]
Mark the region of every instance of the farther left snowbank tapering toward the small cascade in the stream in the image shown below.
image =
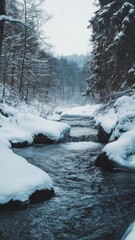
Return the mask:
[[[40,116],[17,112],[14,116],[4,117],[0,114],[0,140],[26,145],[33,143],[38,134],[47,139],[57,142],[65,137],[70,131],[70,126],[44,119]]]

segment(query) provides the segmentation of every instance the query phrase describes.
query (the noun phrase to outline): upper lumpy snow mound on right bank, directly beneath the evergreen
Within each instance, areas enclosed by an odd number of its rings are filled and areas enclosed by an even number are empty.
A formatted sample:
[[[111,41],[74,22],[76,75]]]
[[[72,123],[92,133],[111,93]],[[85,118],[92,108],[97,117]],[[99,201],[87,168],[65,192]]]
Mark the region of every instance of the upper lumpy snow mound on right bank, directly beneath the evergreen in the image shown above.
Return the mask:
[[[130,124],[131,118],[133,118],[134,111],[135,111],[135,95],[122,96],[118,98],[115,101],[114,106],[110,108],[108,111],[106,111],[104,114],[95,116],[95,122],[96,125],[100,125],[104,129],[104,131],[108,134],[110,134],[112,130],[115,129],[113,131],[113,135],[110,138],[112,141],[121,135],[120,131],[125,132],[131,130],[131,127],[128,127],[128,123]],[[130,115],[132,115],[132,117]],[[125,123],[123,124],[123,122]],[[132,127],[134,127],[133,122],[134,120],[132,120],[131,124]]]

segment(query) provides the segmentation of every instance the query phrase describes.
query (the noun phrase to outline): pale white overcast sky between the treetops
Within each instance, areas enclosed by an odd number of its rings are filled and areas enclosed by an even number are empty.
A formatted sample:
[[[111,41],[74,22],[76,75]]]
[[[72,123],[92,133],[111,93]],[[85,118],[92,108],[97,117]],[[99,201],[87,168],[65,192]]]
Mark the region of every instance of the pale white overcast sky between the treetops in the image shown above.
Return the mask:
[[[46,0],[45,10],[53,15],[44,27],[56,55],[86,54],[90,51],[88,20],[94,0]]]

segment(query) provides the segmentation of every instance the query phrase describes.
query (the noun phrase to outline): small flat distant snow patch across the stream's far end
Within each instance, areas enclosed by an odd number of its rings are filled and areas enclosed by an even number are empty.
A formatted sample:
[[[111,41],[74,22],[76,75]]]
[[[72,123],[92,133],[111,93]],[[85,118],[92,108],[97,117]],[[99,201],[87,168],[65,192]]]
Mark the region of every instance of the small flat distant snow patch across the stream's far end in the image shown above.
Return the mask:
[[[61,117],[62,118],[86,118],[93,117],[95,111],[97,111],[101,107],[99,104],[95,105],[85,105],[85,106],[77,106],[63,110]]]

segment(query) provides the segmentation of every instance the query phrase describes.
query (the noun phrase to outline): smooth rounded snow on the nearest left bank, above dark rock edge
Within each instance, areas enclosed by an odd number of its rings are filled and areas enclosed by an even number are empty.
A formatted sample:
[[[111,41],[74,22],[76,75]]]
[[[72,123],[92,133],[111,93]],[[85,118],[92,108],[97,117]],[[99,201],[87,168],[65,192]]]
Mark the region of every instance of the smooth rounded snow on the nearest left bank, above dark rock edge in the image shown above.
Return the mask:
[[[0,204],[10,200],[22,202],[36,190],[51,189],[52,180],[41,169],[28,163],[0,142]]]

